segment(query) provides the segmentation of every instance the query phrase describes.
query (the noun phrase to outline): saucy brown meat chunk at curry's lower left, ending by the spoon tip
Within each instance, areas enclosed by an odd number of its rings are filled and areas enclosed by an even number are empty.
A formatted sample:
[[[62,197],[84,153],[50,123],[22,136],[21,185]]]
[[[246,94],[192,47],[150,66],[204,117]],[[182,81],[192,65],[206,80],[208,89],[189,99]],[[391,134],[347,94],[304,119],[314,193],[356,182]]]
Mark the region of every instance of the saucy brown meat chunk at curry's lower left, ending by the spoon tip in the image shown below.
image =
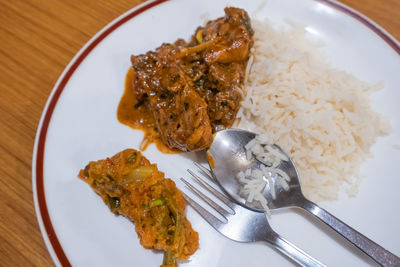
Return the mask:
[[[151,68],[135,71],[139,77],[134,81],[137,83],[134,88],[146,89],[135,90],[136,97],[150,106],[160,137],[170,148],[203,149],[212,140],[207,103],[194,90],[193,82],[183,73],[179,61],[171,61],[176,47],[179,46],[163,45],[157,50],[157,61]],[[132,56],[132,63],[138,62],[135,70],[141,68],[143,60],[152,59],[147,55]]]

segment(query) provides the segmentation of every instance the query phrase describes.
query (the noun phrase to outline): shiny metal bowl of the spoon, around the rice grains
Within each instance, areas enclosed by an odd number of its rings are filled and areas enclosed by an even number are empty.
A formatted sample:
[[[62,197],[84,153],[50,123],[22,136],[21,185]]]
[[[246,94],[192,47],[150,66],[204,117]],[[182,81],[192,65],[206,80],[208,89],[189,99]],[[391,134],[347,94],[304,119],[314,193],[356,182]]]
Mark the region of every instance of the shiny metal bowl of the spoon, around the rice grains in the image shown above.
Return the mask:
[[[245,145],[255,137],[255,133],[240,129],[220,131],[216,134],[208,153],[214,161],[214,166],[211,166],[214,167],[211,168],[214,178],[225,193],[246,208],[263,212],[264,209],[261,206],[247,203],[246,199],[239,195],[238,192],[241,185],[235,178],[240,171],[260,169],[260,166],[264,165],[255,158],[248,159],[246,157]],[[263,195],[267,199],[268,207],[271,210],[297,206],[296,203],[304,196],[301,191],[296,166],[278,145],[274,145],[274,147],[289,159],[288,161],[282,161],[277,168],[290,177],[288,182],[290,189],[285,191],[282,187],[274,185],[276,192],[276,197],[274,198],[271,194],[271,185],[267,183]]]

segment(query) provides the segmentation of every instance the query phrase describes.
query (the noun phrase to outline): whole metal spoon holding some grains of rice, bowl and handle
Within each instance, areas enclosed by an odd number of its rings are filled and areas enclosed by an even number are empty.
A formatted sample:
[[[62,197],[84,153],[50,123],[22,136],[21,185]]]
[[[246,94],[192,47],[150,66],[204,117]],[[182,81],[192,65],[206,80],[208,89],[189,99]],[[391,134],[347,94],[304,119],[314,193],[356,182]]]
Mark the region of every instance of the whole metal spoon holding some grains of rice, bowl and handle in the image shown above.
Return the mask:
[[[255,133],[229,129],[219,131],[208,153],[210,168],[215,180],[220,184],[221,188],[239,204],[259,212],[264,212],[262,209],[255,209],[246,204],[246,200],[239,196],[240,185],[235,178],[237,173],[246,169],[260,168],[262,164],[258,160],[246,158],[245,145],[256,136]],[[282,149],[279,148],[281,151]],[[284,151],[282,151],[287,155]],[[288,156],[288,161],[283,161],[278,166],[279,169],[286,172],[290,179],[290,190],[285,191],[281,188],[275,188],[276,198],[273,199],[270,188],[266,186],[263,195],[268,201],[268,207],[271,210],[300,207],[318,219],[329,225],[333,230],[341,234],[348,241],[370,256],[373,260],[383,266],[400,266],[400,258],[379,246],[369,238],[365,237],[355,229],[351,228],[317,204],[306,199],[301,191],[300,182],[296,167]]]

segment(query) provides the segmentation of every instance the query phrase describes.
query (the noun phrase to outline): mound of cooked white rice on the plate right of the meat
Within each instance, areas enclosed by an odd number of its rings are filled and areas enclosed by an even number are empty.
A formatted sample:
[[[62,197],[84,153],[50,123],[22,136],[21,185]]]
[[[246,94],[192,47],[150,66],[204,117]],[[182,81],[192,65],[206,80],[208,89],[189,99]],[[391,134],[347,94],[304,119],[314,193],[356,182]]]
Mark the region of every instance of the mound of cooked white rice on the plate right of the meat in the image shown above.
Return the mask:
[[[333,68],[301,26],[275,30],[253,21],[253,28],[247,94],[236,126],[267,134],[288,153],[310,199],[334,200],[345,184],[355,195],[360,164],[376,138],[390,131],[388,120],[370,106],[370,93],[382,85]]]

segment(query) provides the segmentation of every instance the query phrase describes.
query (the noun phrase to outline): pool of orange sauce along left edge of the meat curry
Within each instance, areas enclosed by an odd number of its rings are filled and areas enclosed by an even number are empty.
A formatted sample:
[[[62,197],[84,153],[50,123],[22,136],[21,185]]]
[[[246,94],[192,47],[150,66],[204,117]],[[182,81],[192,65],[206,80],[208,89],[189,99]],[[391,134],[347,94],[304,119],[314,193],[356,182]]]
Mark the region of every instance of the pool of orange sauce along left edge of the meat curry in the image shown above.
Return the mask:
[[[167,147],[161,140],[155,125],[154,117],[147,105],[135,107],[137,100],[135,98],[133,79],[135,72],[129,68],[125,77],[125,90],[118,105],[117,118],[122,124],[125,124],[135,130],[144,132],[143,140],[140,144],[140,150],[145,150],[151,143],[155,143],[158,150],[163,153],[179,153],[178,150]]]

